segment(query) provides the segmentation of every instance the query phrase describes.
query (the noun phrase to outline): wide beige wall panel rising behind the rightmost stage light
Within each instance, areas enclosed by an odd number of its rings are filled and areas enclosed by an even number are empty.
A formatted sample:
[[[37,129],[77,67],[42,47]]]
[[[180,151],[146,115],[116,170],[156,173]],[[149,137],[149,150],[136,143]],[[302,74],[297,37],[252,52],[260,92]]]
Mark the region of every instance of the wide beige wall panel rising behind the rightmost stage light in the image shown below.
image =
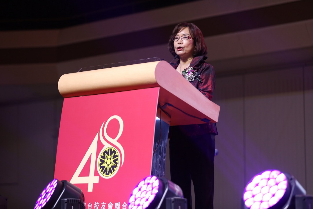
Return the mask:
[[[305,184],[302,68],[245,76],[247,181],[267,169]]]

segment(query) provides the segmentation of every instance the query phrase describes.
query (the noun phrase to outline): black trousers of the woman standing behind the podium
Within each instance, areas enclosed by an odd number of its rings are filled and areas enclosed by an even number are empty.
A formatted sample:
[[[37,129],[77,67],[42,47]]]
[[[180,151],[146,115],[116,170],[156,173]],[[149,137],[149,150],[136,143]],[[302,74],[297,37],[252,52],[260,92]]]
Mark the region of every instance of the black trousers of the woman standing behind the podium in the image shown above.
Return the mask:
[[[213,209],[214,134],[186,136],[177,128],[169,141],[171,181],[182,188],[192,209],[191,180],[196,209]]]

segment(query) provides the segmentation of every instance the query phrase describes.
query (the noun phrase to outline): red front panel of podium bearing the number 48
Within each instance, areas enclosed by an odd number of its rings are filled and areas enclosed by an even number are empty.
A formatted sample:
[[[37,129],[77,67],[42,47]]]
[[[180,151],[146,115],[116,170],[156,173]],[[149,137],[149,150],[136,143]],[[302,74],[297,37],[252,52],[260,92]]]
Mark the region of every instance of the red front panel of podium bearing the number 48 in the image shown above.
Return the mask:
[[[151,174],[159,90],[64,98],[54,177],[82,189],[86,209],[126,208]]]

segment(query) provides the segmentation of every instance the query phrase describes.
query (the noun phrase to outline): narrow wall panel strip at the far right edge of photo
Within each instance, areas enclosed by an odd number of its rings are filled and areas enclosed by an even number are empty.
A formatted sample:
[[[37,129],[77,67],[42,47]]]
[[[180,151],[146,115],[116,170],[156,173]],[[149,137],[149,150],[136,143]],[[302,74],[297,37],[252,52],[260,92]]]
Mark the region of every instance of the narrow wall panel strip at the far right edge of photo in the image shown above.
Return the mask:
[[[313,195],[313,66],[304,70],[306,192]]]

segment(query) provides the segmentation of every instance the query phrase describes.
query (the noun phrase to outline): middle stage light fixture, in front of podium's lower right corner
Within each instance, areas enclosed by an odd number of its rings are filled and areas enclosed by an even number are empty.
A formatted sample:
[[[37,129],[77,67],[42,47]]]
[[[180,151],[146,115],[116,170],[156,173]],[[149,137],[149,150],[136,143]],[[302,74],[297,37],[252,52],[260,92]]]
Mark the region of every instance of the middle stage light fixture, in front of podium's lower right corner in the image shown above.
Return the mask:
[[[165,177],[147,176],[131,192],[129,209],[187,209],[182,189]]]

